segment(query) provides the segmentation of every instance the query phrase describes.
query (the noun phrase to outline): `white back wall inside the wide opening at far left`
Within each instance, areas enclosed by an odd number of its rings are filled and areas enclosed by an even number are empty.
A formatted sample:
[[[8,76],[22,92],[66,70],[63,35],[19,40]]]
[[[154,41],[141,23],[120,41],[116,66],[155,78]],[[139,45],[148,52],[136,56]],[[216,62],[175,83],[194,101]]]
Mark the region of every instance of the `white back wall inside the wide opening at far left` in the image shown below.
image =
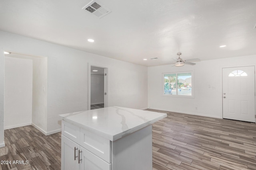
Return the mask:
[[[4,129],[31,125],[32,60],[4,57]]]

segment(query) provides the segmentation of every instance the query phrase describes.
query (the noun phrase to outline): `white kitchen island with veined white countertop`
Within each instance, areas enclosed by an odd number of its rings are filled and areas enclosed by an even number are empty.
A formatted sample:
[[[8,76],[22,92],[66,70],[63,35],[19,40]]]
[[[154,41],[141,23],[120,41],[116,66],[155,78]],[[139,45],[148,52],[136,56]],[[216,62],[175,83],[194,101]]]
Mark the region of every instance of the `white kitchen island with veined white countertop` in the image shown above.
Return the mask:
[[[166,113],[113,106],[60,116],[62,170],[152,169],[152,123]]]

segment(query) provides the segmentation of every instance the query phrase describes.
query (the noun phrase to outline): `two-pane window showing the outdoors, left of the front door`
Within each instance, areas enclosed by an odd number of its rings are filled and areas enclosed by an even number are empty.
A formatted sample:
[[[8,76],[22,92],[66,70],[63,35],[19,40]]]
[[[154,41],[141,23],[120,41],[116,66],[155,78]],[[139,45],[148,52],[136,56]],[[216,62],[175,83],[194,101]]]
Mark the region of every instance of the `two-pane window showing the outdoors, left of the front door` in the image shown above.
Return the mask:
[[[164,96],[193,96],[192,72],[163,73]]]

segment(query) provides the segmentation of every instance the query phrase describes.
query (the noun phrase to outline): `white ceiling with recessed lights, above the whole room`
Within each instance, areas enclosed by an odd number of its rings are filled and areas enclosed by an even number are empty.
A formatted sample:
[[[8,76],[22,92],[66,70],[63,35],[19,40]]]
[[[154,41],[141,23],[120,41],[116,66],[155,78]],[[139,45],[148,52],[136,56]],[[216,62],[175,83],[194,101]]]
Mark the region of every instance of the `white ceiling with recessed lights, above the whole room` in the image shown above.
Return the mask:
[[[96,1],[112,12],[82,10],[90,0],[1,0],[0,30],[144,66],[178,51],[183,60],[256,54],[256,0]]]

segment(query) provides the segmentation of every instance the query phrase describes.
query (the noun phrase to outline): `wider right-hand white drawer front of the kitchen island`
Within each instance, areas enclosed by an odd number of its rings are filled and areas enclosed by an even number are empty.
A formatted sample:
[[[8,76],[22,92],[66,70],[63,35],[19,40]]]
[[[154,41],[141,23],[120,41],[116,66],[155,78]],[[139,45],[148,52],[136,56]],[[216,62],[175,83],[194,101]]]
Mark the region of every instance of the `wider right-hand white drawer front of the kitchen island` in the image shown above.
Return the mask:
[[[112,162],[112,142],[110,140],[81,128],[79,144],[106,162]]]

